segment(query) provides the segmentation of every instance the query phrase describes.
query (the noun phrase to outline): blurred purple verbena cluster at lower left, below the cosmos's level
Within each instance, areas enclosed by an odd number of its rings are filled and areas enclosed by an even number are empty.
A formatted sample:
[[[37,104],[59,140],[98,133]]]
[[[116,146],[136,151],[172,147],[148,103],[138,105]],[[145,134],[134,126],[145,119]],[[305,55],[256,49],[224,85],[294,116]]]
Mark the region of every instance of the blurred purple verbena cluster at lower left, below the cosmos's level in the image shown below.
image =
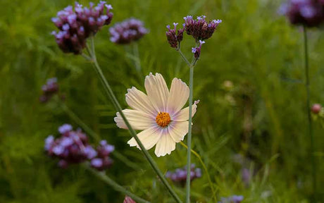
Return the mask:
[[[79,164],[84,161],[91,161],[92,168],[102,171],[113,163],[109,154],[113,152],[113,145],[102,140],[99,146],[94,149],[88,142],[87,135],[82,130],[73,130],[69,124],[61,125],[58,128],[60,137],[53,135],[45,140],[44,149],[49,156],[60,159],[58,166],[67,168],[70,164]]]

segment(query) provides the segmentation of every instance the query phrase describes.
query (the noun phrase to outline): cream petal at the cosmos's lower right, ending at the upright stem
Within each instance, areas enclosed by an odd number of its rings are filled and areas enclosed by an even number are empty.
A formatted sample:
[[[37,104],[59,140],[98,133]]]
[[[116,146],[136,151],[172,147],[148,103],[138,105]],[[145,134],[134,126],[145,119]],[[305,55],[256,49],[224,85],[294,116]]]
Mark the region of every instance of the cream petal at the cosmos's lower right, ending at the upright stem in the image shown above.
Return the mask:
[[[185,135],[187,135],[188,128],[188,121],[172,121],[168,126],[168,133],[173,141],[180,142],[185,138]]]

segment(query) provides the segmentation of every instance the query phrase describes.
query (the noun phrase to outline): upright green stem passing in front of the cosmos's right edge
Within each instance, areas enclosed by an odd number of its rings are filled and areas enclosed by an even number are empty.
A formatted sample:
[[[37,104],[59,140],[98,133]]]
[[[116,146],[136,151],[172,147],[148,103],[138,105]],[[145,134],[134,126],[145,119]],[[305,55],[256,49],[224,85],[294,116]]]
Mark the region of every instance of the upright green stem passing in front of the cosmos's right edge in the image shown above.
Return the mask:
[[[190,162],[191,162],[191,147],[192,147],[192,94],[194,85],[194,64],[189,66],[189,128],[187,136],[187,185],[186,185],[186,202],[190,202]]]

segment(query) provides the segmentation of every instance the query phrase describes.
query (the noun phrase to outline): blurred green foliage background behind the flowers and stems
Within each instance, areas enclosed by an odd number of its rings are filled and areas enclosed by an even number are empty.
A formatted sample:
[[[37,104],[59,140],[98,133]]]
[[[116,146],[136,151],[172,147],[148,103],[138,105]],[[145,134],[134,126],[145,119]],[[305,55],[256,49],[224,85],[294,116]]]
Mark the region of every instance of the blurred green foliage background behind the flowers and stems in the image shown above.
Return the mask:
[[[80,1],[88,4],[88,1]],[[97,3],[97,2],[94,2]],[[143,75],[162,73],[188,84],[189,69],[166,42],[166,25],[183,16],[222,19],[206,41],[194,73],[193,149],[204,160],[217,197],[244,195],[244,202],[310,202],[310,139],[306,123],[304,55],[301,27],[278,15],[274,0],[111,0],[114,23],[143,20],[149,34],[141,39]],[[77,123],[56,101],[40,104],[42,85],[57,77],[64,103],[101,138],[116,146],[108,176],[151,202],[173,202],[145,161],[127,145],[130,135],[113,122],[116,111],[101,83],[81,56],[63,54],[50,35],[51,18],[74,1],[1,0],[0,2],[0,202],[123,202],[123,195],[80,166],[61,169],[44,153],[44,139],[63,123]],[[109,41],[108,25],[97,33],[96,53],[106,78],[123,105],[127,88],[144,90],[130,46]],[[194,46],[185,35],[182,51]],[[324,101],[323,31],[309,30],[311,104]],[[230,81],[230,82],[225,82]],[[224,83],[225,82],[225,83]],[[231,85],[232,82],[232,85]],[[230,84],[230,85],[229,85]],[[323,128],[316,139],[318,199],[324,199]],[[90,142],[95,141],[90,137]],[[154,155],[154,150],[150,150]],[[177,144],[156,158],[163,172],[185,166],[186,149]],[[196,157],[192,162],[201,168]],[[245,168],[245,169],[244,169]],[[249,171],[249,181],[242,179]],[[247,183],[248,182],[248,183]],[[185,190],[175,185],[184,197]],[[203,171],[192,183],[192,202],[210,202]]]

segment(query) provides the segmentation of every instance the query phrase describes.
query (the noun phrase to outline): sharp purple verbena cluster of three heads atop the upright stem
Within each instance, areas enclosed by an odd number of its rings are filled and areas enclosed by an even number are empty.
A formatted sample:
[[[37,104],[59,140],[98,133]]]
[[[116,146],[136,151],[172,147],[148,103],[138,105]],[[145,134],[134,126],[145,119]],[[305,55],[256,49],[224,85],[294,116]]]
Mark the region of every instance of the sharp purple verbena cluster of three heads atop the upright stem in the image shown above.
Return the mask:
[[[180,42],[183,39],[183,32],[186,31],[187,35],[192,35],[197,42],[198,47],[193,47],[192,53],[194,54],[194,58],[199,59],[201,45],[205,43],[204,40],[213,35],[213,32],[215,32],[218,25],[222,23],[222,20],[211,20],[207,22],[206,16],[198,16],[196,20],[194,20],[192,16],[187,16],[184,19],[185,23],[182,24],[183,27],[178,30],[178,23],[173,23],[173,29],[170,28],[170,25],[166,26],[168,28],[168,31],[166,31],[166,38],[171,47],[179,50]]]

